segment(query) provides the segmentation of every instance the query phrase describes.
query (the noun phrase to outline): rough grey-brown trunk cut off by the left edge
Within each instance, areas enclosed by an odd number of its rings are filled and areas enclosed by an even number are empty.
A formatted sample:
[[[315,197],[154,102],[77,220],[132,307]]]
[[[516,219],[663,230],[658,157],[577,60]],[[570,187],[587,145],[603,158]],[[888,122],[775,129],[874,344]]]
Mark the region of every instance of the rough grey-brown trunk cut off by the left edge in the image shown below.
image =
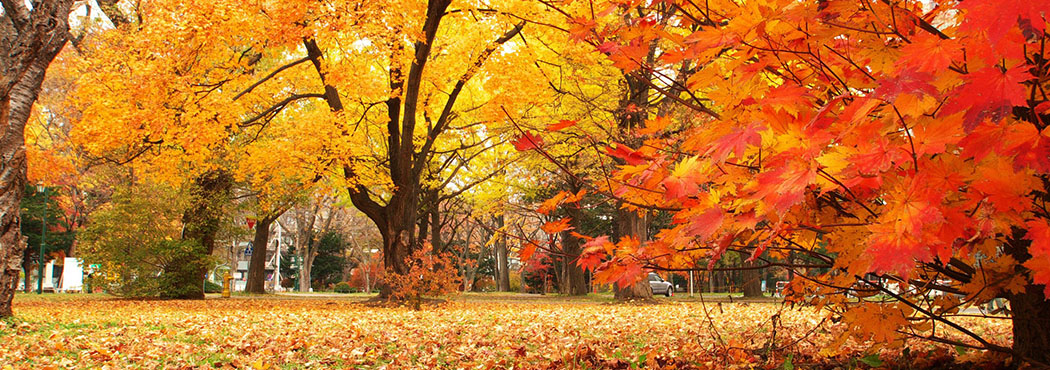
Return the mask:
[[[0,30],[0,317],[13,314],[25,238],[20,205],[25,192],[25,123],[47,66],[69,39],[72,0],[4,1]]]

